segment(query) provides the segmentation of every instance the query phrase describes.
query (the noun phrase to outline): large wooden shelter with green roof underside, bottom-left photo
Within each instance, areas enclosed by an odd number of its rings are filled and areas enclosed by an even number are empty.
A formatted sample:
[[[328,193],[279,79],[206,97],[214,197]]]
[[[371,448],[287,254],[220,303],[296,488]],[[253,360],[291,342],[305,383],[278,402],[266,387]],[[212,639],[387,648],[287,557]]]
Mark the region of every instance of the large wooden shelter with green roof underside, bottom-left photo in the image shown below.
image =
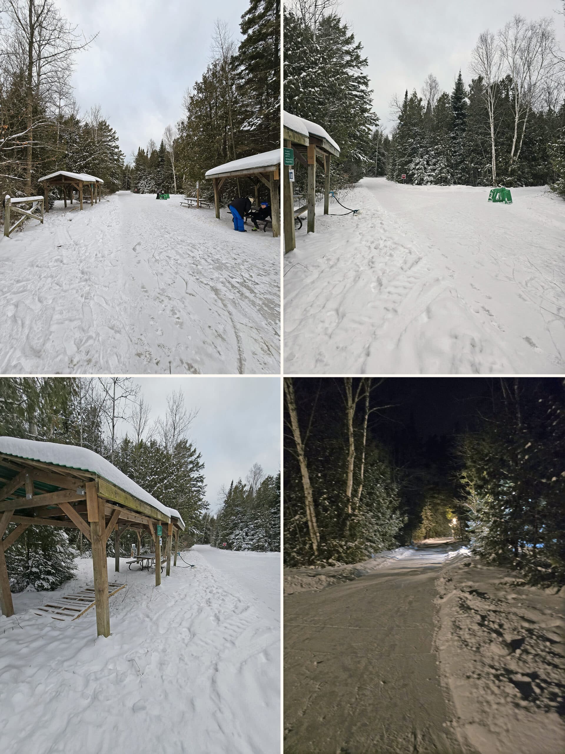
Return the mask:
[[[96,627],[110,634],[106,542],[115,537],[115,570],[120,570],[120,537],[127,529],[138,542],[148,532],[155,546],[155,585],[161,583],[161,544],[157,526],[166,533],[166,575],[171,550],[175,558],[179,529],[177,510],[163,505],[101,455],[74,445],[0,437],[0,606],[14,615],[5,552],[30,525],[79,529],[92,544]],[[9,523],[17,524],[4,539]]]

